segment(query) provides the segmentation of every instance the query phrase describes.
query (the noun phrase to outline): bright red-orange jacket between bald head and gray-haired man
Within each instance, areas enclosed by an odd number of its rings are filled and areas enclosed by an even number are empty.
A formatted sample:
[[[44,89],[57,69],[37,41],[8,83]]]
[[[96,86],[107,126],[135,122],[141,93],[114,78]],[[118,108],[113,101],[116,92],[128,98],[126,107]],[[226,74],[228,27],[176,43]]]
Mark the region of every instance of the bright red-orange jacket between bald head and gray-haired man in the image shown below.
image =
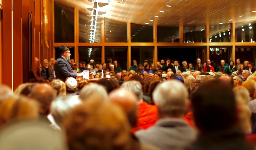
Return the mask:
[[[131,129],[133,133],[140,129],[147,129],[155,124],[158,120],[157,107],[147,104],[146,102],[141,102],[139,104],[137,117],[137,126]]]

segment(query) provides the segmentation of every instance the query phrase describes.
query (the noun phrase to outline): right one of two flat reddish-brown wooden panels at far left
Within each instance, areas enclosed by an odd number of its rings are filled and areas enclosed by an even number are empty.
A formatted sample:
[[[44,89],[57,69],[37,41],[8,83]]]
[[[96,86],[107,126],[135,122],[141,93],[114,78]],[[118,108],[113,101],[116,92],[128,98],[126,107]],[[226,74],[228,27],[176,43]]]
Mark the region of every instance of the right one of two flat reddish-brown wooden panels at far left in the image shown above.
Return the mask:
[[[13,89],[22,84],[22,1],[13,0]]]

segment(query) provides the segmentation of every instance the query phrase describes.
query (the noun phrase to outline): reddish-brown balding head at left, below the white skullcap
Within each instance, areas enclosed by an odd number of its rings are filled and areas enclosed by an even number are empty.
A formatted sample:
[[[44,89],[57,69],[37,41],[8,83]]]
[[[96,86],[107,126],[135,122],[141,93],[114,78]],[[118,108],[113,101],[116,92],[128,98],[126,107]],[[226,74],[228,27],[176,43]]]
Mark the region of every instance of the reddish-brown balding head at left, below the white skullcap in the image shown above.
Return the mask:
[[[56,93],[53,87],[46,83],[35,85],[31,91],[31,98],[39,102],[39,113],[43,115],[47,115],[49,113],[49,106],[55,97]]]

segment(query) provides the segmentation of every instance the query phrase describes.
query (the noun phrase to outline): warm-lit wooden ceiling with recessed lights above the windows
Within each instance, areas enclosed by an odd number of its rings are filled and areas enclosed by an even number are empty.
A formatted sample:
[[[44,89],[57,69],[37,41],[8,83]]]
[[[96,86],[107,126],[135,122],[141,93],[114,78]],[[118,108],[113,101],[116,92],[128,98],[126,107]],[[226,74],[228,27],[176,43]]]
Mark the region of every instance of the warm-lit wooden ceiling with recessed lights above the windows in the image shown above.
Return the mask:
[[[77,7],[87,14],[90,13],[87,7],[93,5],[88,0],[55,1],[70,7]],[[166,5],[171,5],[171,7]],[[157,24],[158,26],[183,25],[186,27],[232,22],[229,19],[234,22],[256,20],[256,12],[252,12],[256,11],[255,0],[125,0],[124,2],[110,0],[109,5],[103,8],[107,11],[100,17],[136,24],[148,22],[151,26]],[[159,11],[164,11],[164,13]],[[155,15],[159,17],[154,17]],[[243,17],[239,17],[241,15]],[[154,21],[149,21],[149,19]],[[194,23],[191,23],[193,21]]]

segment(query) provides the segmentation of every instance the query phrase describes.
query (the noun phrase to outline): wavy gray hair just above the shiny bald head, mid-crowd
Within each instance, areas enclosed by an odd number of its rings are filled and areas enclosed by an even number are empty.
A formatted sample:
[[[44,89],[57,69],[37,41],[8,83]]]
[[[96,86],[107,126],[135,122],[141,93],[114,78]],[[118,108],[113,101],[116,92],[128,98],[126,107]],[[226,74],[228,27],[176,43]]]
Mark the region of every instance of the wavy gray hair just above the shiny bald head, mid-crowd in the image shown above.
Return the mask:
[[[127,81],[122,84],[121,88],[127,89],[134,93],[139,99],[142,99],[143,90],[139,81]]]

